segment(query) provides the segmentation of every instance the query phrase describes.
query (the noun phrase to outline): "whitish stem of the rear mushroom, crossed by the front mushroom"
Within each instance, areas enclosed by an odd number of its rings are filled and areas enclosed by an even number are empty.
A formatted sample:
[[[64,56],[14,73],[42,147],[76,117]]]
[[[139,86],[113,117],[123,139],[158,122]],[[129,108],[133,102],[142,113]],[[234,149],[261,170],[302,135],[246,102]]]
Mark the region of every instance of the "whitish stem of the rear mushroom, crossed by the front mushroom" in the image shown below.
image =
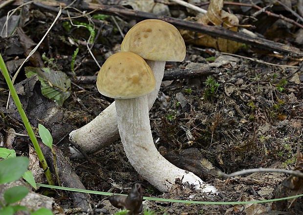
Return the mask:
[[[148,107],[151,109],[160,90],[165,61],[146,61],[155,76],[155,89],[149,93]],[[104,109],[95,119],[80,129],[69,133],[69,139],[77,143],[86,153],[94,153],[109,146],[119,138],[115,102]]]

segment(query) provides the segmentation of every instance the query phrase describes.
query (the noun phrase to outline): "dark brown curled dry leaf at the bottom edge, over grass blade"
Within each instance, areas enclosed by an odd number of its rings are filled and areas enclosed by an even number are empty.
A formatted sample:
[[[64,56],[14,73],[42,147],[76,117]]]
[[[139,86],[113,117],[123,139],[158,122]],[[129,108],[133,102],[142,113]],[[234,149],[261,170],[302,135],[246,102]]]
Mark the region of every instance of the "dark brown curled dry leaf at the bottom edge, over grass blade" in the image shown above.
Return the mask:
[[[108,200],[116,208],[129,210],[129,215],[138,215],[142,211],[143,194],[141,185],[136,183],[128,196],[111,195]]]

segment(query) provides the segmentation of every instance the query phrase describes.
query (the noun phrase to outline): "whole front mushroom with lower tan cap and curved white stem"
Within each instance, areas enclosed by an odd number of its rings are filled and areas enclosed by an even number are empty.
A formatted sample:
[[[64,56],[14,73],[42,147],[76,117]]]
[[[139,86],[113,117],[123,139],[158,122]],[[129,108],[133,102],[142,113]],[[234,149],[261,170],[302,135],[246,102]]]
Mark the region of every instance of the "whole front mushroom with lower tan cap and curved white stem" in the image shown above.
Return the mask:
[[[99,92],[115,98],[119,133],[130,164],[161,192],[179,178],[204,192],[216,193],[215,187],[205,184],[194,173],[177,168],[155,148],[147,98],[154,87],[151,68],[132,52],[113,54],[98,73]]]

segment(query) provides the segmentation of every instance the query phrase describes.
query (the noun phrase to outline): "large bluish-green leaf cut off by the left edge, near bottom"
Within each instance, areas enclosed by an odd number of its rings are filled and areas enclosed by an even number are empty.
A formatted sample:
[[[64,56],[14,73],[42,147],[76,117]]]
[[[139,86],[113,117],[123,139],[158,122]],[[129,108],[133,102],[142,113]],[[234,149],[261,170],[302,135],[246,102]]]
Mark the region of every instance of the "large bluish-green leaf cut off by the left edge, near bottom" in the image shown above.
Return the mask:
[[[13,157],[0,161],[0,184],[16,181],[27,170],[27,157]]]

